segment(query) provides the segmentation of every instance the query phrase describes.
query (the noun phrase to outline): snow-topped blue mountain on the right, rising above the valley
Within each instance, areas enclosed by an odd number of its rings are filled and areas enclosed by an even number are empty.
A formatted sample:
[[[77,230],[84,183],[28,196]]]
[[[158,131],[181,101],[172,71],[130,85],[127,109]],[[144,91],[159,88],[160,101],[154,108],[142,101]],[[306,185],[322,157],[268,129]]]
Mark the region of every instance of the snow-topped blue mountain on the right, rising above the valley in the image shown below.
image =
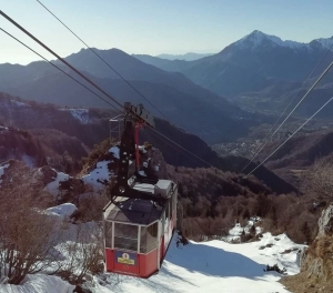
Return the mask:
[[[331,63],[332,46],[333,37],[300,43],[253,31],[221,52],[194,61],[165,61],[149,55],[135,58],[170,72],[181,72],[196,84],[242,108],[276,110],[278,107],[280,111],[312,71],[312,77],[304,84],[305,89]],[[329,73],[320,83],[330,92],[329,95],[333,95],[330,85],[332,77]],[[314,104],[320,104],[316,102],[321,99],[319,97],[322,97],[322,91],[315,89],[307,105],[305,101],[305,108],[313,109]],[[296,113],[304,112],[307,111],[303,109]]]

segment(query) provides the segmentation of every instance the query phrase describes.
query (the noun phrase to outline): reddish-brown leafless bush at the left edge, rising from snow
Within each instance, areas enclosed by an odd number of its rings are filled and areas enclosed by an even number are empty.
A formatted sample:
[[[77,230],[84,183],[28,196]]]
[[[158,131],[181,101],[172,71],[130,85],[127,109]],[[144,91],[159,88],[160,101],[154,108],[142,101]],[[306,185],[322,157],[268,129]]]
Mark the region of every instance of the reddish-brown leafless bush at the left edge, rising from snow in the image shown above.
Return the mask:
[[[33,172],[10,162],[0,188],[0,279],[19,284],[53,261],[54,222],[43,213],[50,198],[39,192]]]

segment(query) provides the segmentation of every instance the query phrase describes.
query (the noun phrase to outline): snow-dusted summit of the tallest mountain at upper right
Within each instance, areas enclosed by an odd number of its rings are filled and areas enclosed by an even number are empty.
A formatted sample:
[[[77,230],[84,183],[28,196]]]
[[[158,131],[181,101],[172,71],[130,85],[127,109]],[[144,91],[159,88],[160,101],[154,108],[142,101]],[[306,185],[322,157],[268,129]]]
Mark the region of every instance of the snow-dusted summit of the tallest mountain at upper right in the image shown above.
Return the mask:
[[[261,47],[265,42],[269,42],[272,46],[286,47],[291,49],[299,49],[306,46],[305,43],[295,41],[283,41],[279,37],[265,34],[259,30],[254,30],[250,34],[236,41],[234,44],[240,48],[256,48]]]

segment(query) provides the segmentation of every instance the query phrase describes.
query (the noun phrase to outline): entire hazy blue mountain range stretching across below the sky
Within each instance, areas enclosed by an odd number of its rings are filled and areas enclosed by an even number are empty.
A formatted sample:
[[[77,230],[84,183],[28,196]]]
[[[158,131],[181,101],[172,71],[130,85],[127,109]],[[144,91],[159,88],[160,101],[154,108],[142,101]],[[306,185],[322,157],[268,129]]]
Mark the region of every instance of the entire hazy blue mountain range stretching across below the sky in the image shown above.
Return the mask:
[[[91,50],[82,49],[65,60],[121,103],[144,103],[154,115],[167,118],[208,143],[219,143],[245,137],[251,127],[273,122],[274,117],[256,111],[280,114],[295,93],[305,93],[333,59],[333,53],[327,50],[332,44],[333,38],[299,43],[253,31],[219,53],[193,61],[133,57],[119,49],[93,49],[140,94],[102,64]],[[321,59],[323,62],[301,89]],[[60,61],[53,62],[67,71]],[[327,74],[296,114],[313,113],[313,109],[333,95],[332,75]],[[79,80],[90,88],[84,80]],[[59,105],[109,107],[43,61],[28,65],[0,64],[0,91]],[[297,99],[293,104],[296,102]],[[329,105],[321,117],[330,119],[332,109]]]

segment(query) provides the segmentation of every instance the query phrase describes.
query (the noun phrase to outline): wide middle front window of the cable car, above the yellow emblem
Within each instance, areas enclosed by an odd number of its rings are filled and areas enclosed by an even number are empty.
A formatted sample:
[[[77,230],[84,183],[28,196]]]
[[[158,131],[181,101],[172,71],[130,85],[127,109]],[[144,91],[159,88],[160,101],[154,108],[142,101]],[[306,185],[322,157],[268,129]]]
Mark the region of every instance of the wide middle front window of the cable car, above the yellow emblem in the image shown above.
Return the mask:
[[[138,226],[114,223],[114,247],[138,251]]]

